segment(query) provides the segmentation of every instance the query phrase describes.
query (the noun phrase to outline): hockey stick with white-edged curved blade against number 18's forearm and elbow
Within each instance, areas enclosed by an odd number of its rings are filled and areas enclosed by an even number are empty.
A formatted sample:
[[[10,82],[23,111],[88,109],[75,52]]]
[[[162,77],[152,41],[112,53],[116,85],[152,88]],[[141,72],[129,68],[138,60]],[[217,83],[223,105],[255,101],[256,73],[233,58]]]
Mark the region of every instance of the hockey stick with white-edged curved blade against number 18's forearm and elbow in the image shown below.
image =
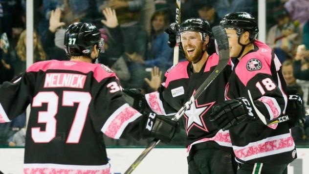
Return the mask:
[[[286,122],[288,120],[290,120],[290,116],[289,115],[283,115],[281,117],[277,117],[275,119],[272,119],[272,120],[269,120],[267,119],[261,112],[260,110],[258,110],[256,108],[256,106],[254,105],[253,103],[253,99],[252,99],[252,96],[251,96],[251,93],[250,91],[248,90],[248,95],[249,95],[249,99],[252,103],[252,107],[254,109],[254,111],[257,113],[258,117],[260,118],[260,120],[267,126],[269,125],[273,125],[273,124],[276,124],[276,123],[282,123],[282,122]],[[309,115],[309,109],[305,110],[305,116],[308,116]]]

